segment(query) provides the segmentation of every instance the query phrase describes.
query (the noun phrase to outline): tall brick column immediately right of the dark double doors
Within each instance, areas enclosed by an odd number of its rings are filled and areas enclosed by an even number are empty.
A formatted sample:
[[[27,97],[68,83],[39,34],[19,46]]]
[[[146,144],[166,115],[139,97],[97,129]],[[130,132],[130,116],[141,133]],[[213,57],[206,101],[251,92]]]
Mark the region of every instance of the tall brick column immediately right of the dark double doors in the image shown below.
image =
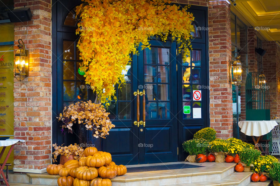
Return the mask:
[[[230,4],[209,2],[210,127],[218,138],[229,138],[232,129]]]

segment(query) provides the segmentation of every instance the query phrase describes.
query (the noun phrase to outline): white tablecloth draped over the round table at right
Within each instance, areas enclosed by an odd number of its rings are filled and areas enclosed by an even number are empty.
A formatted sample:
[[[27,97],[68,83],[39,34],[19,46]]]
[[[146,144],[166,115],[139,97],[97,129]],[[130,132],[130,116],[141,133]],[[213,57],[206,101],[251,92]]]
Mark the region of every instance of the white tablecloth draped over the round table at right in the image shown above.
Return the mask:
[[[276,125],[276,121],[240,121],[238,126],[247,136],[262,136],[269,133]]]

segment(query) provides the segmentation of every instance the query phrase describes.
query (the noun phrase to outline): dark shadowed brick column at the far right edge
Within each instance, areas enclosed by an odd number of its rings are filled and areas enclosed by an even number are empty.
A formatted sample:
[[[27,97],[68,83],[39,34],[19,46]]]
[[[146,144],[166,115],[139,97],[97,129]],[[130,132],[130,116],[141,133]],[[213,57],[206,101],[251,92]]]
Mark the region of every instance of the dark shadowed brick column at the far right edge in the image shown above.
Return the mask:
[[[266,85],[269,86],[270,119],[272,119],[273,115],[280,117],[280,47],[274,41],[262,41],[262,49],[266,50],[262,57],[262,66],[266,76]]]

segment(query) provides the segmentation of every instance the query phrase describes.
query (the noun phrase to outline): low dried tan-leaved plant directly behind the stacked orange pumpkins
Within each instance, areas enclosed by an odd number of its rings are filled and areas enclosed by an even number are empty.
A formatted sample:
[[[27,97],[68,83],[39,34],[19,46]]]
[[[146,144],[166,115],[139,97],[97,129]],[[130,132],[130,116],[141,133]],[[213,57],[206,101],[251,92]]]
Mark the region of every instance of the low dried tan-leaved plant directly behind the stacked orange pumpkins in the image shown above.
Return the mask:
[[[77,145],[77,143],[74,143],[74,145],[71,144],[69,146],[57,146],[55,143],[53,144],[53,147],[55,149],[53,152],[53,162],[57,162],[56,159],[58,155],[64,155],[67,157],[67,159],[69,159],[70,155],[74,155],[74,159],[79,160],[84,154],[84,149]]]

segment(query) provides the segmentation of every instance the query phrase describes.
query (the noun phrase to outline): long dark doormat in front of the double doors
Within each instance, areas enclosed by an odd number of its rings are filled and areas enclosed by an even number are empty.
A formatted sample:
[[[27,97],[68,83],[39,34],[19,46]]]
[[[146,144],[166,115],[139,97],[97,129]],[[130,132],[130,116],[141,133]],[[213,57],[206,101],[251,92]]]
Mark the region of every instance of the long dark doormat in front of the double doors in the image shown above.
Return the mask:
[[[128,167],[127,172],[160,171],[160,170],[187,169],[187,168],[197,168],[197,167],[203,167],[203,166],[181,163],[181,164],[171,164],[171,165]]]

